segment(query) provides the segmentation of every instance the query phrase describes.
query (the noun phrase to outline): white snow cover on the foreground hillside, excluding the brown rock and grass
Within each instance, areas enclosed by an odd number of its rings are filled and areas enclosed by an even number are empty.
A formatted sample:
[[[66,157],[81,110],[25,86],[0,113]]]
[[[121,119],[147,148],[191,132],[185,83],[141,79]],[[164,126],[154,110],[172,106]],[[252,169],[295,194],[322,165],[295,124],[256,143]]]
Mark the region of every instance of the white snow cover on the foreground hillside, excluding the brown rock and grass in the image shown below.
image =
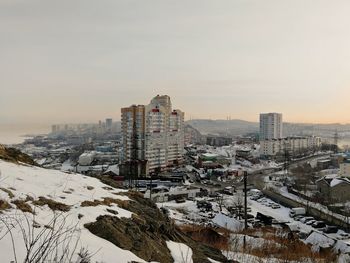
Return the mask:
[[[12,220],[13,225],[9,224],[9,226],[16,248],[16,253],[14,254],[11,235],[7,234],[3,237],[7,229],[4,224],[0,223],[1,262],[11,262],[15,260],[15,255],[18,262],[23,262],[26,249],[22,230],[27,233],[27,237],[31,235],[28,231],[33,231],[31,233],[35,236],[45,228],[53,226],[53,219],[57,220],[57,224],[54,225],[55,228],[59,226],[62,231],[67,229],[70,233],[73,233],[73,237],[70,239],[71,243],[68,245],[70,251],[73,251],[75,246],[76,252],[79,252],[80,248],[87,249],[93,255],[91,262],[145,262],[132,252],[123,250],[109,241],[93,235],[84,227],[84,224],[94,222],[100,215],[130,218],[132,213],[118,207],[117,204],[112,204],[108,207],[105,205],[81,205],[83,201],[102,200],[105,197],[129,200],[127,196],[121,195],[125,190],[111,188],[97,179],[80,174],[68,174],[28,165],[17,165],[1,160],[0,187],[3,189],[0,189],[0,200],[5,200],[12,206],[12,209],[1,211],[0,220],[1,223],[6,222],[6,220]],[[34,206],[30,201],[27,203],[35,210],[35,216],[31,213],[24,213],[15,209],[15,205],[11,201],[25,200],[27,196],[30,196],[34,200],[42,196],[56,202],[64,203],[70,206],[70,210],[68,212],[54,212],[47,205]],[[107,211],[107,208],[109,211],[113,210],[117,212],[117,215]],[[13,221],[13,219],[17,221]],[[35,227],[32,227],[32,225],[35,225]],[[60,229],[57,231],[60,231]],[[45,233],[49,232],[46,231]],[[39,242],[36,248],[42,245],[44,244]],[[184,246],[184,244],[175,246],[173,243],[169,243],[174,258],[179,258],[182,255],[183,250],[186,250]],[[181,248],[181,253],[176,250],[177,247]],[[190,252],[192,251],[189,251],[187,256],[192,260],[192,254]],[[75,258],[76,255],[73,259]]]

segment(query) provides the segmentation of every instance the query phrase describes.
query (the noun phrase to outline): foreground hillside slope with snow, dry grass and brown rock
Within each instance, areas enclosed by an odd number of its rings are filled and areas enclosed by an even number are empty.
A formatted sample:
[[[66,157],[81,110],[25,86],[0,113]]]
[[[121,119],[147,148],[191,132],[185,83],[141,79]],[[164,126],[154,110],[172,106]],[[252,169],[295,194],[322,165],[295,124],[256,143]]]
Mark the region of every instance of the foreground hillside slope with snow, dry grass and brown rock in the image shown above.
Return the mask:
[[[191,255],[186,262],[228,262],[220,251],[183,234],[138,193],[80,174],[0,160],[1,260],[25,262],[28,254],[40,253],[46,260],[62,257],[58,262],[89,262],[85,257],[170,263],[184,254]]]

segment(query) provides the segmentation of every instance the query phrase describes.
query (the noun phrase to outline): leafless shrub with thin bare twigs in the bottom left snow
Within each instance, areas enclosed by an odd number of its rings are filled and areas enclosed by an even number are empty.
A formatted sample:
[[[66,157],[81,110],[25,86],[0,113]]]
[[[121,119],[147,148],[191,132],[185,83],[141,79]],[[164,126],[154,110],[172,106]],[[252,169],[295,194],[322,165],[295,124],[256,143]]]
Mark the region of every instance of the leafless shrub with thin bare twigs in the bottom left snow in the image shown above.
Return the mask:
[[[81,230],[77,224],[67,222],[63,213],[55,212],[43,227],[35,221],[35,213],[32,218],[24,213],[2,215],[0,222],[3,226],[0,228],[0,240],[11,240],[15,263],[19,262],[18,242],[24,243],[25,256],[21,261],[24,263],[90,263],[92,255],[85,248],[77,252]],[[19,234],[20,239],[15,238],[15,234]]]

